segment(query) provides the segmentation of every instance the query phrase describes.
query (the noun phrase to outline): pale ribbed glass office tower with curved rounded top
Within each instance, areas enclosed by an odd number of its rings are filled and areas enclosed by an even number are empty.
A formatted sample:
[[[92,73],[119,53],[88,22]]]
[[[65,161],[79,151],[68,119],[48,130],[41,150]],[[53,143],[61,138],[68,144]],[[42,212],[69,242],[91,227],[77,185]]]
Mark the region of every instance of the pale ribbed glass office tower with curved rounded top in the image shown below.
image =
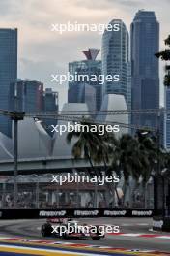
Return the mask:
[[[102,74],[119,75],[120,80],[106,81],[102,86],[102,97],[106,94],[124,95],[128,109],[131,109],[131,78],[129,63],[128,29],[121,19],[113,19],[109,24],[112,28],[119,24],[119,30],[105,30],[102,36]]]

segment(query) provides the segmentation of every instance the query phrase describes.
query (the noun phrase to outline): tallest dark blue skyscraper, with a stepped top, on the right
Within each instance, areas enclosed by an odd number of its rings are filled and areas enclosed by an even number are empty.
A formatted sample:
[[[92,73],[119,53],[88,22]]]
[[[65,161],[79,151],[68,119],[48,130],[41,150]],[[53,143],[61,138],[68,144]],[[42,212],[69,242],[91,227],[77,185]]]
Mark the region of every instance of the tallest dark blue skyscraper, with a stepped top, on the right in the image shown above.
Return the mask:
[[[132,110],[159,108],[159,23],[154,12],[140,10],[131,23]],[[132,123],[157,126],[154,114],[132,114]]]

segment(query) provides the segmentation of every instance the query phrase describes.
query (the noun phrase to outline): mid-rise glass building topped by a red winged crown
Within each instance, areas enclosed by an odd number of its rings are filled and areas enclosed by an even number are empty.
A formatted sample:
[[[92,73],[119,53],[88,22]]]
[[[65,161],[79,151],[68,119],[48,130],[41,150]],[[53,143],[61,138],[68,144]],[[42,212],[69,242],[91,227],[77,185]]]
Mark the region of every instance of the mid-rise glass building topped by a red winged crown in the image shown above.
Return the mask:
[[[99,84],[99,76],[101,75],[101,60],[96,60],[99,54],[99,50],[88,49],[83,51],[82,53],[84,53],[84,56],[86,57],[86,59],[81,61],[70,62],[69,72],[72,75],[77,73],[79,75],[87,75],[89,77],[96,75],[98,77],[98,80],[97,81],[80,80],[78,82],[75,82],[75,81],[69,82],[68,102],[86,102],[86,99],[88,99],[88,94],[92,93],[94,94],[94,96],[92,98],[90,97],[88,100],[89,109],[92,111],[95,111],[95,110],[99,111],[102,103],[102,97],[101,97],[102,86],[101,84]],[[74,85],[77,85],[76,89]],[[75,90],[77,91],[77,95],[75,93]],[[86,93],[83,93],[83,90]],[[88,91],[89,93],[87,93]]]

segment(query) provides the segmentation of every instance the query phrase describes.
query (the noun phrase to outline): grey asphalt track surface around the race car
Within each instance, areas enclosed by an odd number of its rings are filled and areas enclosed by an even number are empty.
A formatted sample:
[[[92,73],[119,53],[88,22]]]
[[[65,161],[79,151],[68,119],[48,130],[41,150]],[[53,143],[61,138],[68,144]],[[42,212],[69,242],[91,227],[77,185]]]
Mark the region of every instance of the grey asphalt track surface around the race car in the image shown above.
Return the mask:
[[[0,221],[0,237],[9,236],[11,238],[23,239],[44,239],[42,238],[40,227],[45,220],[1,220]],[[118,225],[120,232],[128,236],[106,235],[101,240],[62,240],[58,238],[45,238],[45,240],[64,241],[78,244],[91,244],[112,246],[116,248],[156,250],[170,252],[170,234],[154,233],[152,228],[152,218],[95,218],[81,219],[81,223],[87,224],[105,224]],[[147,234],[148,237],[137,237],[137,234]],[[151,235],[169,236],[169,238],[152,237]],[[0,254],[1,255],[1,254]],[[2,254],[8,255],[8,254]]]

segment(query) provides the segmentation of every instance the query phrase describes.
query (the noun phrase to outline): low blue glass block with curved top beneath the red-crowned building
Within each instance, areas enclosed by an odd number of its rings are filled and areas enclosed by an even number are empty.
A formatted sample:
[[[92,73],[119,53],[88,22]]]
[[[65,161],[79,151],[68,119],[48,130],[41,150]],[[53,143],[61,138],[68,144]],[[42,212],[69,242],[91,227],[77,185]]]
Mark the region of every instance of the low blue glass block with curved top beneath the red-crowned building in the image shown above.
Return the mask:
[[[89,111],[96,111],[96,89],[86,83],[70,86],[68,91],[69,103],[86,103]]]

